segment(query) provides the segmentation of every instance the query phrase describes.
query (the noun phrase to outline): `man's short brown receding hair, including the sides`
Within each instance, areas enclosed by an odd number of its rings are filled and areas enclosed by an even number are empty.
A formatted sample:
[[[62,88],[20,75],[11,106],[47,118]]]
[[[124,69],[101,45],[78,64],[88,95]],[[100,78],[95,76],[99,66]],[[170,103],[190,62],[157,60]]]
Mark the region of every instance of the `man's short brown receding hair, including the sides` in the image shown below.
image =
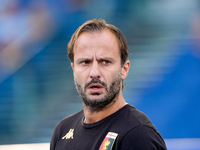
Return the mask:
[[[74,62],[74,46],[79,35],[84,31],[95,32],[102,31],[104,29],[110,30],[117,37],[121,54],[121,65],[124,65],[124,63],[128,60],[129,55],[128,42],[118,28],[111,24],[107,24],[106,21],[103,19],[93,19],[85,22],[72,35],[71,40],[68,43],[68,57],[72,63]]]

